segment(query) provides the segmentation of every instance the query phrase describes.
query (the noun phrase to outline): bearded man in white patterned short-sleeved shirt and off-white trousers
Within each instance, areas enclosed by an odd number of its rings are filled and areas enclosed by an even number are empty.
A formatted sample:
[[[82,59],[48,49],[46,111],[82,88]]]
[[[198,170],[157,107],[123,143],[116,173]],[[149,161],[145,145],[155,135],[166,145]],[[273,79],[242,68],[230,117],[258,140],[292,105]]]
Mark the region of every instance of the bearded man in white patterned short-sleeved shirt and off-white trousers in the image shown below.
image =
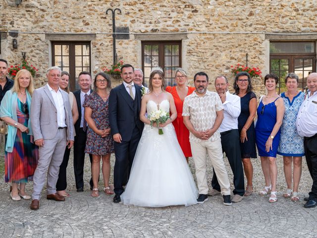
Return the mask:
[[[211,158],[220,184],[223,204],[231,205],[230,182],[223,162],[223,154],[218,128],[223,119],[223,106],[217,93],[207,90],[208,75],[198,72],[194,76],[196,91],[184,100],[183,119],[190,131],[193,159],[199,189],[198,203],[208,200],[206,155]]]

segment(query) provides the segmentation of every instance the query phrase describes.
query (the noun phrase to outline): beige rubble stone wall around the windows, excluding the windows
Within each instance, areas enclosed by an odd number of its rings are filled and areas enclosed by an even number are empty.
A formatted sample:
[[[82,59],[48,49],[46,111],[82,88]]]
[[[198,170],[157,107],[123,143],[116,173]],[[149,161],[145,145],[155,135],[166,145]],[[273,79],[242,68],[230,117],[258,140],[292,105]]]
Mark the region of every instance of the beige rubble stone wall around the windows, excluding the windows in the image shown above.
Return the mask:
[[[0,56],[14,64],[26,52],[27,59],[40,69],[37,87],[44,84],[45,69],[51,65],[46,33],[96,33],[91,41],[92,72],[111,65],[112,36],[106,33],[112,32],[112,17],[106,15],[107,8],[120,8],[116,26],[129,27],[133,34],[187,33],[182,41],[183,67],[190,78],[206,71],[212,90],[218,74],[225,74],[232,84],[230,65],[245,63],[246,53],[249,65],[268,72],[264,32],[317,32],[315,0],[23,0],[19,7],[14,0],[0,1],[0,31],[4,32]],[[18,49],[12,48],[8,33],[12,30],[20,32]],[[117,55],[141,67],[141,41],[133,34],[130,40],[117,40]],[[159,35],[157,40],[164,37]],[[261,80],[255,82],[257,92],[264,93],[262,85]]]

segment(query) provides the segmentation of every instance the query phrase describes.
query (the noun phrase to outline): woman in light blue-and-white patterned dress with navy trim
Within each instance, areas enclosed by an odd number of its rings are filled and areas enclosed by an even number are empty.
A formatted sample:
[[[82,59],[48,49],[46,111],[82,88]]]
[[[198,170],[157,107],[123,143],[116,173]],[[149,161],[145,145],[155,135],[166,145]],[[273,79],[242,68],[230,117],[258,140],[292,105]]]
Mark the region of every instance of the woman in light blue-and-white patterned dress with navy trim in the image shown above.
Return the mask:
[[[298,201],[298,185],[302,175],[302,156],[304,156],[304,139],[299,136],[296,129],[296,117],[305,94],[298,92],[299,78],[295,73],[288,73],[285,77],[287,91],[281,94],[285,104],[285,114],[281,126],[281,138],[277,154],[283,156],[284,174],[287,190],[283,197],[291,197],[292,201]],[[292,188],[292,163],[293,185]]]

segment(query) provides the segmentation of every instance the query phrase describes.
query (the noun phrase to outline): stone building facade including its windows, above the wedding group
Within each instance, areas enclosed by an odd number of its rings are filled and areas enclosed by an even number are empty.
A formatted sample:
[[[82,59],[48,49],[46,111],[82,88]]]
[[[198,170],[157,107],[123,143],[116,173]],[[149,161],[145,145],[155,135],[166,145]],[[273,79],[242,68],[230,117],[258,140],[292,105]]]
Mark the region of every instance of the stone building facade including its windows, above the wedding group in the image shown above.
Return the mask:
[[[232,92],[231,65],[257,66],[262,75],[287,72],[306,77],[316,72],[316,0],[0,0],[0,58],[10,64],[26,60],[39,71],[36,87],[45,84],[46,69],[61,66],[78,88],[82,70],[93,76],[113,63],[112,14],[115,11],[116,58],[145,72],[165,70],[167,84],[183,67],[190,84],[198,71],[214,78],[224,74]],[[16,43],[14,45],[14,43]],[[113,79],[113,85],[118,84]],[[253,81],[257,95],[263,79]]]

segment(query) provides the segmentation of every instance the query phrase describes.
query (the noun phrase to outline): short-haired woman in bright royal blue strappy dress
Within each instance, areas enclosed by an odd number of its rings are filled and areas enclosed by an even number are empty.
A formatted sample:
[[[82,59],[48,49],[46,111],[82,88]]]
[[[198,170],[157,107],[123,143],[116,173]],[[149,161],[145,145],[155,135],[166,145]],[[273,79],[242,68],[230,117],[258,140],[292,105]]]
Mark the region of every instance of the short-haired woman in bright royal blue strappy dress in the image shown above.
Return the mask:
[[[257,113],[256,143],[261,157],[261,165],[265,179],[265,187],[260,195],[271,192],[269,202],[276,202],[277,166],[276,153],[280,139],[280,126],[284,116],[284,101],[276,93],[278,77],[266,74],[264,85],[267,94],[260,101]]]

